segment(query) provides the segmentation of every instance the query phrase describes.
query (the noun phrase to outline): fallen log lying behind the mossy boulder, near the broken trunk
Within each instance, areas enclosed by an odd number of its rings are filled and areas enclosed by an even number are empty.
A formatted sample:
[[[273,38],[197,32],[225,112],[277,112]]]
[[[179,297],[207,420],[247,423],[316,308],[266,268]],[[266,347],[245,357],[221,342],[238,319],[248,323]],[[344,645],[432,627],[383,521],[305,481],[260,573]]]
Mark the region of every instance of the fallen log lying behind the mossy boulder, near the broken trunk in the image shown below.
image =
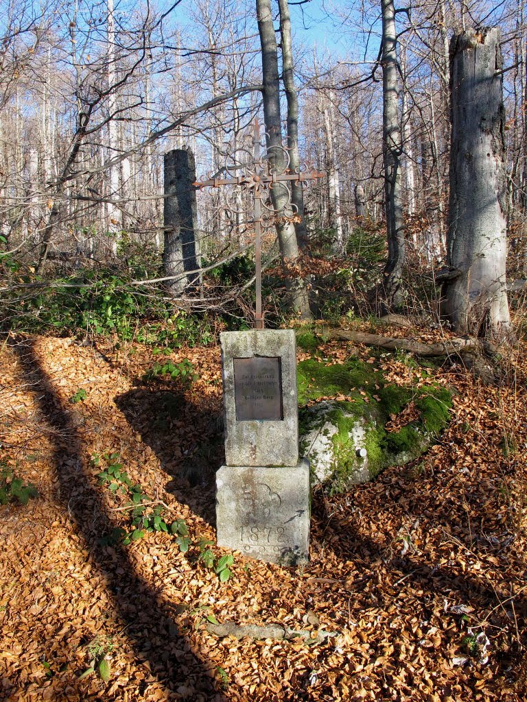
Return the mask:
[[[375,346],[388,351],[408,351],[421,357],[449,357],[465,354],[493,355],[497,347],[490,341],[477,339],[471,336],[455,336],[434,344],[425,344],[422,341],[411,338],[396,338],[393,336],[379,336],[365,331],[352,331],[351,329],[340,329],[339,327],[318,326],[316,328],[318,336],[328,340],[355,341],[365,346]]]

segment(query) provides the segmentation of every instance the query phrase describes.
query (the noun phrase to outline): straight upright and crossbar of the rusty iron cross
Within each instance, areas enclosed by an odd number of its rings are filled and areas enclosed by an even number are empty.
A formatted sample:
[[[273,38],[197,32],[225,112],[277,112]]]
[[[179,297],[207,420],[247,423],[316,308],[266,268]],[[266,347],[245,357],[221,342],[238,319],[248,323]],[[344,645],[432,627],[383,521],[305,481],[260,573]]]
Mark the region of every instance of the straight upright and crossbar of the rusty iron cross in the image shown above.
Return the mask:
[[[263,329],[263,314],[261,306],[261,225],[262,217],[262,201],[268,189],[272,189],[275,183],[292,183],[297,187],[301,187],[301,183],[306,180],[314,180],[322,178],[323,173],[315,171],[306,173],[297,169],[294,173],[286,168],[282,173],[276,173],[271,166],[268,157],[271,149],[268,149],[266,154],[260,152],[260,124],[258,119],[254,121],[254,133],[252,140],[252,162],[244,164],[245,173],[242,176],[234,178],[209,178],[209,180],[196,181],[193,183],[200,190],[204,187],[222,187],[223,185],[237,185],[244,190],[252,191],[254,197],[253,220],[254,223],[254,258],[256,263],[255,281],[256,281],[256,312],[254,315],[254,328]],[[284,147],[280,147],[287,154]],[[276,147],[272,147],[272,151],[276,152]],[[289,160],[289,157],[287,157]],[[264,165],[265,164],[265,165]],[[241,166],[236,166],[240,168]],[[278,214],[273,210],[274,214]]]

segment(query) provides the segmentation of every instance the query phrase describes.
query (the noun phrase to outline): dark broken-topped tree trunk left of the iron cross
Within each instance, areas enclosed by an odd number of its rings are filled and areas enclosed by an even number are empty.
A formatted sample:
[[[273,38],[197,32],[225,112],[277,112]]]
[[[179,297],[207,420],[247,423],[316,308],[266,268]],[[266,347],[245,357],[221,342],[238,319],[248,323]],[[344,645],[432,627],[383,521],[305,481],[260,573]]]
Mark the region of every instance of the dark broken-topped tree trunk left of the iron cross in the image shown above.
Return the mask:
[[[195,159],[192,152],[174,149],[164,154],[164,251],[167,289],[174,296],[199,284]]]

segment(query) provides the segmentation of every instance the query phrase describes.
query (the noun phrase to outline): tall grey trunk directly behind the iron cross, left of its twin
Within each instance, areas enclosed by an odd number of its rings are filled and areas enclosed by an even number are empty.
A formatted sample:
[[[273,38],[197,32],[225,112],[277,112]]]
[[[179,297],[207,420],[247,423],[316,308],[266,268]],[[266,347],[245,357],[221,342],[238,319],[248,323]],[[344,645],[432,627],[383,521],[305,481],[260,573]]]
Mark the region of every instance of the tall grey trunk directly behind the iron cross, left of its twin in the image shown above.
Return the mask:
[[[271,0],[256,0],[258,30],[261,42],[261,65],[263,74],[263,117],[266,124],[267,147],[271,154],[271,167],[277,173],[285,170],[287,159],[282,151],[282,127],[280,122],[280,94],[278,84],[278,51],[276,46]],[[282,263],[294,263],[299,258],[297,233],[292,223],[293,212],[289,194],[285,187],[273,187],[271,199],[276,213],[276,230]],[[303,319],[311,318],[306,283],[301,279],[287,277],[292,302]]]

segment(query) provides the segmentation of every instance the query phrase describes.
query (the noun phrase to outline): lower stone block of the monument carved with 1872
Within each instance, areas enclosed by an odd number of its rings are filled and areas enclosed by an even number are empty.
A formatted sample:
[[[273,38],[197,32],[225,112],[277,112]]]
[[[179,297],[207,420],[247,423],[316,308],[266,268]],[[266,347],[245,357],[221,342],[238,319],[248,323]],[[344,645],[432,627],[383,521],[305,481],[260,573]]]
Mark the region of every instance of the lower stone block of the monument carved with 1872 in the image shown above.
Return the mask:
[[[218,545],[282,565],[309,557],[309,461],[222,465],[216,473]]]

